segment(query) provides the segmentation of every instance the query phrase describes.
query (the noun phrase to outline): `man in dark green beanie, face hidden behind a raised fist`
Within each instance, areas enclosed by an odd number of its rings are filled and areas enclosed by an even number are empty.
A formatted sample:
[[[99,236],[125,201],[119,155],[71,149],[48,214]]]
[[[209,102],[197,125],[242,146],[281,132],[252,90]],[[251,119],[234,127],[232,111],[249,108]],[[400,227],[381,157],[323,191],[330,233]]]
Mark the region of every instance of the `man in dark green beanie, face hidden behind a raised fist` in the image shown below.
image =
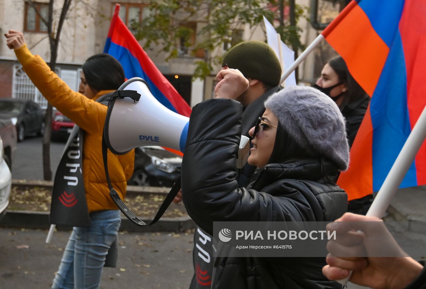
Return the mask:
[[[225,65],[239,69],[249,81],[248,89],[237,98],[244,110],[242,135],[249,137],[248,131],[265,112],[265,101],[280,90],[281,65],[271,47],[261,41],[244,41],[233,46],[223,58],[222,66]],[[251,142],[250,146],[252,146]],[[256,167],[245,165],[238,178],[239,187],[248,185],[255,170]],[[216,245],[213,237],[196,228],[193,250],[195,275],[190,289],[210,288]]]

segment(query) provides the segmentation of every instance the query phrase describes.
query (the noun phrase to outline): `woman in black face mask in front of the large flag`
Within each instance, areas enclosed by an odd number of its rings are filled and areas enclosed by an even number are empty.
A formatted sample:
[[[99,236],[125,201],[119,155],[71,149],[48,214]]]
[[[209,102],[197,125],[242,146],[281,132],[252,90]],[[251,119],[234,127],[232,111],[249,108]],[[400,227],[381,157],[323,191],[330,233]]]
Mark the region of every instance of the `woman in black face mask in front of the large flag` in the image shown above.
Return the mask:
[[[324,65],[314,87],[336,102],[346,119],[346,133],[351,147],[366,114],[370,97],[354,80],[340,56]],[[372,201],[372,195],[351,200],[348,202],[348,212],[365,215]]]

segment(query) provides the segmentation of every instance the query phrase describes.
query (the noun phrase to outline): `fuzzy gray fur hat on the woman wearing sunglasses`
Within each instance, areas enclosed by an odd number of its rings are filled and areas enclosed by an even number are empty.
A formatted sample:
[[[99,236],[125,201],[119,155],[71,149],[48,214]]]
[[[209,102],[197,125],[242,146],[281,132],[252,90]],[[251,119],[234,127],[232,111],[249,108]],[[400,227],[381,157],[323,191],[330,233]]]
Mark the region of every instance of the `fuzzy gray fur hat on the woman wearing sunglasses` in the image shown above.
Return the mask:
[[[288,87],[271,95],[265,107],[299,145],[326,156],[340,171],[348,168],[345,119],[327,95],[312,87]]]

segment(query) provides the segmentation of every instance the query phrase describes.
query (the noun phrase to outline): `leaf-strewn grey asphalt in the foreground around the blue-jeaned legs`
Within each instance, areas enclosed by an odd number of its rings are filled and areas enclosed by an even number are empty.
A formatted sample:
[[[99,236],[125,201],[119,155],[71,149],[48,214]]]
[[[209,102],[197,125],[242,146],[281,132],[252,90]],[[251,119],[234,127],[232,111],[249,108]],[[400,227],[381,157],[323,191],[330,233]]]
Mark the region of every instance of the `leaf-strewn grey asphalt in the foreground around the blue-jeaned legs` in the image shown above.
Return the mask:
[[[0,289],[50,288],[70,232],[0,228]],[[187,289],[193,275],[193,231],[119,233],[117,268],[104,268],[102,289]]]

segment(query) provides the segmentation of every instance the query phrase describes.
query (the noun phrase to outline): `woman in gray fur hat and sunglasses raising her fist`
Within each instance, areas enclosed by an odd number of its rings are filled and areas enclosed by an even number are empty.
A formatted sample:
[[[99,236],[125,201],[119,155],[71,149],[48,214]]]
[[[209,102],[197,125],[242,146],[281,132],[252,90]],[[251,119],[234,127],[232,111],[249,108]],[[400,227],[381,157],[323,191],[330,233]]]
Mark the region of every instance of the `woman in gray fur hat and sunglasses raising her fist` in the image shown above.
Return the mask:
[[[347,196],[331,179],[348,167],[349,148],[334,101],[311,87],[286,88],[268,98],[250,130],[248,162],[261,170],[247,188],[238,188],[242,106],[234,99],[248,81],[236,69],[223,69],[216,78],[215,99],[193,108],[182,162],[183,201],[197,225],[213,234],[214,221],[342,216]],[[325,258],[313,257],[216,257],[213,276],[198,277],[213,289],[341,288],[322,275],[324,265]]]

